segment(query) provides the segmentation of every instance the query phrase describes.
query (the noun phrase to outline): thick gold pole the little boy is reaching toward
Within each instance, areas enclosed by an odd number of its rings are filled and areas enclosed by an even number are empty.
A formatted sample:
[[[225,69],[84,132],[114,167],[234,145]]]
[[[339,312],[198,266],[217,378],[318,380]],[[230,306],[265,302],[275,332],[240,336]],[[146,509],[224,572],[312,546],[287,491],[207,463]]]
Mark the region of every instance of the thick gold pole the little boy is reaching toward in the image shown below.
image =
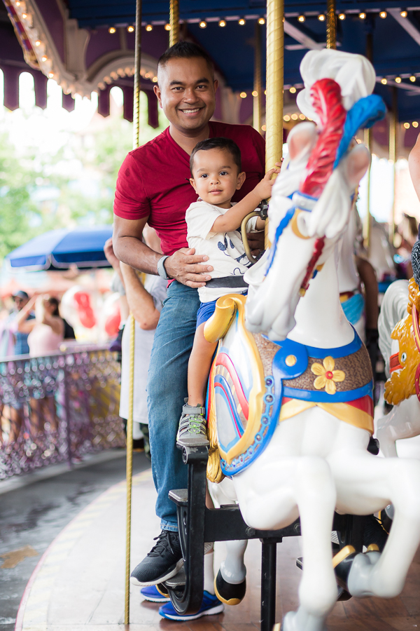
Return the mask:
[[[284,0],[267,0],[267,99],[265,170],[283,155]],[[265,247],[268,222],[265,222]]]

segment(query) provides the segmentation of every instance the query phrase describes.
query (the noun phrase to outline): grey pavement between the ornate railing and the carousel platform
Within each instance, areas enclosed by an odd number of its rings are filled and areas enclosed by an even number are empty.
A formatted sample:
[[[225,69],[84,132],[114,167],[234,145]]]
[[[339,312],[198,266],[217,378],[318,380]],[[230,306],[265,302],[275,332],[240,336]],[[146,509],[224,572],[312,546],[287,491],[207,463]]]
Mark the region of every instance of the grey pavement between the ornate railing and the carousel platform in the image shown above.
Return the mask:
[[[150,468],[133,454],[134,475]],[[112,449],[0,482],[0,631],[13,631],[25,587],[45,550],[92,501],[125,479],[125,450]],[[65,581],[64,581],[65,583]]]

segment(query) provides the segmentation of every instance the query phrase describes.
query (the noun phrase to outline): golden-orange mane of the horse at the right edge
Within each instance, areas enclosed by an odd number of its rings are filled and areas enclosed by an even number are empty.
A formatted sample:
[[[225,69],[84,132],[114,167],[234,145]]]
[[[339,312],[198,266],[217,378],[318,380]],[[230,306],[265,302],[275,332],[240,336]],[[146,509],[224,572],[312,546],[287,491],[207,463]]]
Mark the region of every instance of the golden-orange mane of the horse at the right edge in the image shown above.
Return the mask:
[[[399,372],[391,373],[386,381],[384,398],[391,405],[398,405],[401,401],[416,394],[415,376],[416,368],[420,363],[420,353],[414,337],[412,309],[416,309],[416,317],[420,312],[420,291],[414,278],[408,284],[407,315],[395,325],[391,333],[391,339],[398,339],[399,359],[402,368]],[[401,361],[402,353],[407,353],[405,362]]]

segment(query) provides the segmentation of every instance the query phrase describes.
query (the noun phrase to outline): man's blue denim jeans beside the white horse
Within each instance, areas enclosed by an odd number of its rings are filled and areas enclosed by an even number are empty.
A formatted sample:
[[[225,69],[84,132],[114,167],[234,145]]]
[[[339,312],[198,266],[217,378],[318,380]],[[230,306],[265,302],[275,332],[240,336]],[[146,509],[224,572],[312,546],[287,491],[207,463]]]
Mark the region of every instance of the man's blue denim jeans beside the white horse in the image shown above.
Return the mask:
[[[176,433],[188,396],[188,360],[200,306],[198,292],[176,280],[168,287],[148,369],[147,403],[156,515],[165,530],[178,530],[171,489],[187,488],[187,467],[176,449]]]

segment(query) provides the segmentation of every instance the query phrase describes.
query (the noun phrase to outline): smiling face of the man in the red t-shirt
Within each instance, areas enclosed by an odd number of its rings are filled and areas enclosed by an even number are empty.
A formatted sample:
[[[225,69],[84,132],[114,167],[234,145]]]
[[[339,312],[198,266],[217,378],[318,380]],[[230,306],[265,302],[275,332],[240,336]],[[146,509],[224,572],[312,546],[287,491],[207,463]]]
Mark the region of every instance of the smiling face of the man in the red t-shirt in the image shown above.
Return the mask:
[[[155,94],[180,131],[200,130],[214,114],[217,81],[202,57],[172,59],[158,70]]]

